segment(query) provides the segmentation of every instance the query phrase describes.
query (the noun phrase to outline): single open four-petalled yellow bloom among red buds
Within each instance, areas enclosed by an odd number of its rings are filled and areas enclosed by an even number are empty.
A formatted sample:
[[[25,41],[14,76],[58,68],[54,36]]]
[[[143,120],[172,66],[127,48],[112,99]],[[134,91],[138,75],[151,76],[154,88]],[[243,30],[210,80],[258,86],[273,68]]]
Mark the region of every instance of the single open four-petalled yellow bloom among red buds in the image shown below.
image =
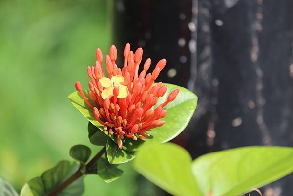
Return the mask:
[[[103,99],[106,99],[108,97],[112,97],[114,87],[119,88],[119,93],[117,98],[123,99],[127,97],[129,94],[128,88],[125,85],[122,85],[121,83],[124,82],[124,77],[120,75],[113,76],[111,79],[102,77],[99,79],[99,82],[101,83],[102,87],[105,89],[102,91],[101,96]]]

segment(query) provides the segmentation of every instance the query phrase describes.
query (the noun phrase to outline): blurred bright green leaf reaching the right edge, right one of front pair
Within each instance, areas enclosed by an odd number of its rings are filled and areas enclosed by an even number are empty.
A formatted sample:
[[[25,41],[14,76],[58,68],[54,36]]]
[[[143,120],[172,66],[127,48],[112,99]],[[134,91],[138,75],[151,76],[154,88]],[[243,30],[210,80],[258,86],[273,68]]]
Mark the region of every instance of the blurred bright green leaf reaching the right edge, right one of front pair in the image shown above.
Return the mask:
[[[293,171],[293,148],[243,147],[214,152],[192,164],[203,195],[236,196]]]

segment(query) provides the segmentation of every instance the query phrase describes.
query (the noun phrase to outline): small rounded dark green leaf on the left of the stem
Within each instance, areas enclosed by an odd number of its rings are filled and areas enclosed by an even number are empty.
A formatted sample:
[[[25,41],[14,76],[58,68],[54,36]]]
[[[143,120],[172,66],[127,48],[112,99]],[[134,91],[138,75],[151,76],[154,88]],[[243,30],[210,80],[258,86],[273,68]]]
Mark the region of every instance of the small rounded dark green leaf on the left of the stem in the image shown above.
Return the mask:
[[[80,171],[85,173],[85,163],[90,157],[91,150],[87,146],[79,144],[71,147],[69,154],[72,158],[80,162]]]

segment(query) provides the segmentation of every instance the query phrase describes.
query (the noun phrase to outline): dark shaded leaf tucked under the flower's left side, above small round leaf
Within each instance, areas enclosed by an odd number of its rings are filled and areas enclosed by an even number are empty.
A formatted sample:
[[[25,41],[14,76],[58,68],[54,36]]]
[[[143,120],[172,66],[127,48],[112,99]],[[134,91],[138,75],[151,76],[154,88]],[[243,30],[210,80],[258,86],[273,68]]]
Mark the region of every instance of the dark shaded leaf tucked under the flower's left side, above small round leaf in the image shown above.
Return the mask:
[[[91,122],[88,122],[88,138],[89,141],[97,146],[105,146],[108,140],[108,136],[99,128],[94,126]]]

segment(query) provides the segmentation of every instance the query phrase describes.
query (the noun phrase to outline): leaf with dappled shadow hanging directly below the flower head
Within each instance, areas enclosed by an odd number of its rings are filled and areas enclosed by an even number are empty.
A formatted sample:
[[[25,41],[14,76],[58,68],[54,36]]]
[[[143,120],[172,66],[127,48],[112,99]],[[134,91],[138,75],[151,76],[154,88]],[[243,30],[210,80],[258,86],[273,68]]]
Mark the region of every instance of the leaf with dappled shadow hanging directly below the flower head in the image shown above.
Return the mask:
[[[113,140],[107,141],[107,158],[111,164],[126,163],[135,158],[134,152],[128,152],[120,149]]]

